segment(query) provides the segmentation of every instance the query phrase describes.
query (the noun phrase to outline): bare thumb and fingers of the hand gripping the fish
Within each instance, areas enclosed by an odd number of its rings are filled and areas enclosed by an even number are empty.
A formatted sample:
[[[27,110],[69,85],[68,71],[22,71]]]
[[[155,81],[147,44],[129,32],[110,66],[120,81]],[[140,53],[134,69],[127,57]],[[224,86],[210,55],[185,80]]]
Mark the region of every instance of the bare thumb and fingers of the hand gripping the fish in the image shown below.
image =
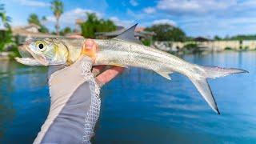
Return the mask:
[[[72,36],[72,38],[82,38],[82,36]],[[98,45],[94,40],[87,39],[84,45],[82,46],[82,53],[90,56],[90,58],[95,61],[97,55]],[[107,82],[110,82],[113,78],[115,78],[118,74],[122,73],[124,70],[123,67],[119,66],[111,66],[106,70],[106,66],[94,66],[93,74],[96,77],[96,81],[99,85],[105,85]]]

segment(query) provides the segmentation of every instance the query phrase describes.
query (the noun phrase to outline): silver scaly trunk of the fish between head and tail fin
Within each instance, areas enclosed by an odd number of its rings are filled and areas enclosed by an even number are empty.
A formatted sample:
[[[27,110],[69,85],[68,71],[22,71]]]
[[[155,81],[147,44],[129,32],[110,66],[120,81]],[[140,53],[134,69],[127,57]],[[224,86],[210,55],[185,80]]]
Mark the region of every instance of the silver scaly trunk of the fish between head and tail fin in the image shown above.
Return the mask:
[[[68,48],[71,62],[75,62],[78,59],[81,54],[82,44],[85,41],[86,39],[84,38],[63,38],[60,40]],[[95,66],[135,66],[154,70],[160,74],[170,74],[172,72],[189,74],[191,70],[197,67],[162,50],[134,42],[126,42],[119,39],[94,39],[94,41],[98,44]],[[197,69],[200,68],[197,67]]]

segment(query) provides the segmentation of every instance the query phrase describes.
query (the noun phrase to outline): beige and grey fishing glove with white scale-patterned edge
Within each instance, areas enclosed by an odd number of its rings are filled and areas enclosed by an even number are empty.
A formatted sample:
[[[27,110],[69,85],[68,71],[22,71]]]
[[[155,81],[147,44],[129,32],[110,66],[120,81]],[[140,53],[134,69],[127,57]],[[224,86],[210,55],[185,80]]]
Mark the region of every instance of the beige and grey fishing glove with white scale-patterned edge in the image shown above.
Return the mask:
[[[90,143],[101,105],[92,63],[81,57],[51,75],[50,112],[34,143]]]

